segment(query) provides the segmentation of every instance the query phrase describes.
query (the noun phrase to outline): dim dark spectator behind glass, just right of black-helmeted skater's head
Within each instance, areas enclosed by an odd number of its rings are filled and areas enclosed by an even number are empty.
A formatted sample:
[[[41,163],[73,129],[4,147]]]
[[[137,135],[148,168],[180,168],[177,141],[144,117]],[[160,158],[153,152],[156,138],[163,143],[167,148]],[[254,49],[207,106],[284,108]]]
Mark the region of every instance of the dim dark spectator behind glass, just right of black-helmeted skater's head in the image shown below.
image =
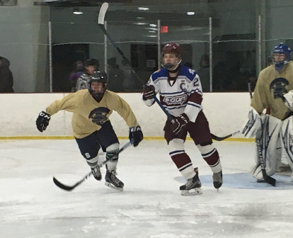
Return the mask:
[[[125,74],[122,69],[119,68],[119,65],[116,63],[116,57],[112,57],[107,61],[108,67],[108,89],[114,92],[123,92],[123,82],[125,81]]]

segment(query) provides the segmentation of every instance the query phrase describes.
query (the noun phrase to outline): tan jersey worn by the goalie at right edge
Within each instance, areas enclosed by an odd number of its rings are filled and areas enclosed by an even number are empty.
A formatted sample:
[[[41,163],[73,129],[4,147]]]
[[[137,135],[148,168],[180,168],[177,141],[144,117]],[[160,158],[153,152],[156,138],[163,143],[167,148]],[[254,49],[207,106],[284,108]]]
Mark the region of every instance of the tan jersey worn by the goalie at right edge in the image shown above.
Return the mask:
[[[258,113],[270,107],[270,115],[284,120],[291,111],[285,106],[282,96],[290,90],[293,90],[293,62],[286,64],[281,73],[272,64],[260,72],[251,106]]]

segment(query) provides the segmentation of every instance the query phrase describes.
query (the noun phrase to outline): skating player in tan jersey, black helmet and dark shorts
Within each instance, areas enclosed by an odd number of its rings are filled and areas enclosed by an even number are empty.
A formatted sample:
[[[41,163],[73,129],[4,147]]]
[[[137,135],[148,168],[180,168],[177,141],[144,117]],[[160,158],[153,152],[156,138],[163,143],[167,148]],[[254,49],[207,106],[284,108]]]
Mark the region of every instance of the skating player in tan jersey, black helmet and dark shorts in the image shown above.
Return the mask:
[[[106,150],[105,185],[123,191],[124,183],[117,179],[116,166],[119,141],[110,123],[109,116],[116,111],[130,128],[130,140],[134,147],[143,139],[142,130],[134,113],[126,101],[113,91],[107,90],[108,76],[105,72],[96,71],[91,75],[88,89],[68,94],[54,101],[40,112],[36,120],[40,132],[46,130],[52,115],[65,110],[73,113],[72,128],[79,150],[93,171],[93,176],[100,181],[102,175],[98,166],[98,151],[100,147]]]

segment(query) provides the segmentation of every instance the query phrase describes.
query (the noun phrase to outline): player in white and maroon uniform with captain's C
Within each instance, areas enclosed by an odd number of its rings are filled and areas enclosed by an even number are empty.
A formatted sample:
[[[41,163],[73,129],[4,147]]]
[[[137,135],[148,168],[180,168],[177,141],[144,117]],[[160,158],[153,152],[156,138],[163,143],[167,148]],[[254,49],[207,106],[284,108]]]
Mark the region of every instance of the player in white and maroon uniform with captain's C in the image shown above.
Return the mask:
[[[214,188],[220,188],[223,179],[219,154],[212,144],[209,123],[202,112],[200,77],[193,69],[181,66],[180,62],[180,46],[175,43],[165,45],[162,50],[163,69],[151,74],[144,86],[142,99],[146,106],[152,106],[158,93],[163,107],[174,118],[175,123],[167,120],[163,130],[171,159],[187,180],[185,185],[180,186],[181,194],[185,196],[202,193],[198,169],[193,167],[184,149],[188,132],[212,169]]]

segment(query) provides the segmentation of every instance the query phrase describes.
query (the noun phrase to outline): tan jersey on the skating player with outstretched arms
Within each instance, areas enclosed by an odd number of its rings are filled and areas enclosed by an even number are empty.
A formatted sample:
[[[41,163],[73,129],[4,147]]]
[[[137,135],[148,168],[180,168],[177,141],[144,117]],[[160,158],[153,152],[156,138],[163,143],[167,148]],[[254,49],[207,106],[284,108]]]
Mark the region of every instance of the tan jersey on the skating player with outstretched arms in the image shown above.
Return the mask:
[[[54,101],[46,108],[46,112],[50,115],[65,110],[73,113],[72,128],[74,137],[84,138],[96,130],[100,130],[100,125],[93,123],[92,115],[100,110],[106,110],[106,118],[109,120],[110,114],[116,111],[125,120],[129,127],[137,126],[137,119],[132,112],[130,106],[120,96],[113,91],[105,91],[105,94],[98,103],[87,89],[79,90],[74,94],[68,94],[62,99]]]

